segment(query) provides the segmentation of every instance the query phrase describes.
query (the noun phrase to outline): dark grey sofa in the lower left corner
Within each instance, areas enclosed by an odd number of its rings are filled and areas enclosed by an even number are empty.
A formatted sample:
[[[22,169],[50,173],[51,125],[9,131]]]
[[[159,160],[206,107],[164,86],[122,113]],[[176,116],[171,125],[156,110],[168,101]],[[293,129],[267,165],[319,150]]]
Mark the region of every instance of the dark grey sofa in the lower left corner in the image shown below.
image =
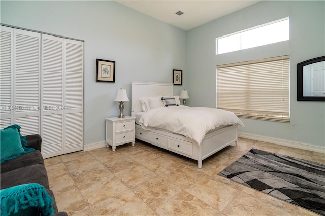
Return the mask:
[[[52,206],[54,214],[52,215],[68,215],[66,212],[58,211],[54,194],[49,188],[48,176],[44,165],[44,159],[41,154],[41,136],[28,135],[26,136],[26,141],[28,143],[28,148],[34,148],[35,151],[22,154],[0,164],[0,187],[2,191],[3,189],[15,188],[15,186],[19,185],[37,183],[41,185],[40,187],[44,186],[47,194],[53,199]],[[19,210],[18,213],[13,215],[42,215],[39,211],[38,207],[28,207]]]

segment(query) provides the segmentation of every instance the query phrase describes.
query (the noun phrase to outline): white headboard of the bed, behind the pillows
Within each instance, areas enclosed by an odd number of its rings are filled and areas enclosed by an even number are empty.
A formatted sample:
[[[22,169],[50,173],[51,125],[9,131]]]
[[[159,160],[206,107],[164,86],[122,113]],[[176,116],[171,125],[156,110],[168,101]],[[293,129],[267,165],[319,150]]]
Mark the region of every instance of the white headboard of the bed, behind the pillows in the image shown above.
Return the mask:
[[[131,85],[131,116],[142,111],[140,98],[153,96],[173,96],[173,83],[132,82]]]

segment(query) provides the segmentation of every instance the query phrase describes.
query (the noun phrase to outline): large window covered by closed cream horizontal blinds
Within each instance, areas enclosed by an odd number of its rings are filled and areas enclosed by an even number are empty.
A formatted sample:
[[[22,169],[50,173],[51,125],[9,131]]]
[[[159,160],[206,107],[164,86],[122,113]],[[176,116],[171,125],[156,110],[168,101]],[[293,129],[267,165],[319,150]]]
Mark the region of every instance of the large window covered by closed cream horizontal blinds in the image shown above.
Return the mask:
[[[289,56],[217,66],[217,107],[239,117],[290,122]]]

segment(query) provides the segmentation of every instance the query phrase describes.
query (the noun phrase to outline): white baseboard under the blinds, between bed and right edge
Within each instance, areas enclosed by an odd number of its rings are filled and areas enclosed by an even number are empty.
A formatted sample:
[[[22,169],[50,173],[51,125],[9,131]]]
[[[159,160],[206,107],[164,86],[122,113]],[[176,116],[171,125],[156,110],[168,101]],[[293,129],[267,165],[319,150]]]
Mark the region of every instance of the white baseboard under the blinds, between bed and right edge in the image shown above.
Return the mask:
[[[296,141],[291,141],[291,140],[286,140],[286,139],[278,139],[278,138],[274,138],[274,137],[260,136],[260,135],[254,135],[254,134],[250,134],[250,133],[241,133],[241,132],[238,132],[238,136],[241,138],[253,139],[253,140],[257,140],[257,141],[270,142],[270,143],[274,143],[274,144],[281,145],[281,146],[287,146],[287,147],[293,147],[293,148],[297,148],[297,149],[304,149],[304,150],[309,150],[309,151],[313,151],[313,152],[324,153],[324,147],[314,146],[314,145],[310,145],[308,143],[303,143],[303,142],[296,142]]]

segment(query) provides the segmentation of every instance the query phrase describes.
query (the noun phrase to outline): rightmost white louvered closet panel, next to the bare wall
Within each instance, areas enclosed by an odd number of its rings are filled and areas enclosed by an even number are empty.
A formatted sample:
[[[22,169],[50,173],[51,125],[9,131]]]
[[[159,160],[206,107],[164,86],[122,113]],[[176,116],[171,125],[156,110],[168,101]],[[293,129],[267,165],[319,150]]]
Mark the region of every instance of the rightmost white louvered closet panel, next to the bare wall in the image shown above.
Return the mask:
[[[64,44],[64,153],[70,153],[83,150],[83,42],[65,39]]]

